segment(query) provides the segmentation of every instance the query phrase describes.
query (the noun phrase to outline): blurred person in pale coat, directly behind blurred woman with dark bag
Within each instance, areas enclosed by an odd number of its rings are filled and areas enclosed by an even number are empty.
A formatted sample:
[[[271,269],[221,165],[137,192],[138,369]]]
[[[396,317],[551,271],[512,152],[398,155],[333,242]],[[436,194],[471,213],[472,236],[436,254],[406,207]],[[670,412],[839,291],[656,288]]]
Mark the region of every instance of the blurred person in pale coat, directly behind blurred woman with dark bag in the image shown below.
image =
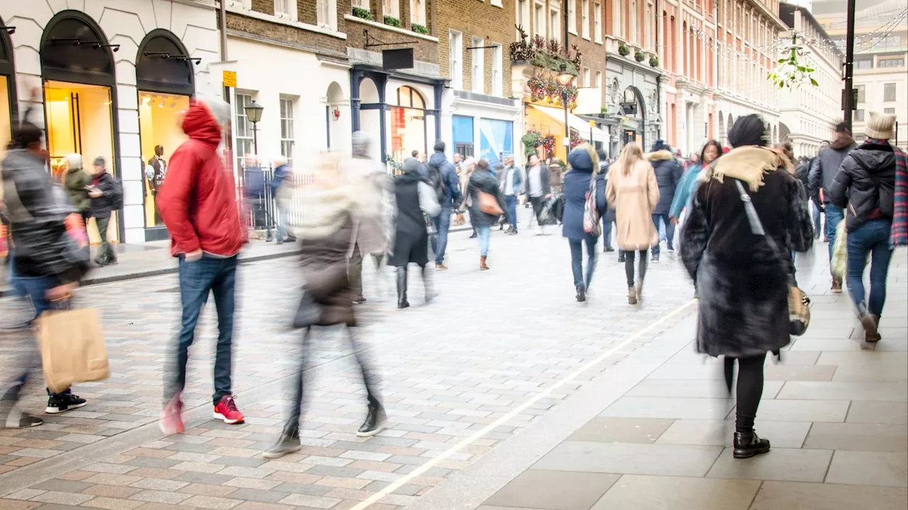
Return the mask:
[[[366,132],[354,132],[352,157],[343,162],[343,171],[347,173],[357,199],[352,212],[354,240],[348,269],[353,304],[366,302],[362,295],[362,256],[371,255],[378,272],[389,249],[390,231],[385,207],[394,183],[381,162],[370,158],[370,142]],[[413,152],[419,155],[419,152]]]

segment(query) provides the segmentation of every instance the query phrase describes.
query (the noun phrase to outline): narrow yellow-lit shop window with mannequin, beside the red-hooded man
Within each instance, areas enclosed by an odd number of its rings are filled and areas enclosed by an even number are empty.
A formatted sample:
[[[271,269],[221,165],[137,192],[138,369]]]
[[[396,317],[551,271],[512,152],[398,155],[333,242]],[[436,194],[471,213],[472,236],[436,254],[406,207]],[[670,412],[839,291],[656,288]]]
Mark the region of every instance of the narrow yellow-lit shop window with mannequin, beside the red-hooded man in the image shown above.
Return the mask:
[[[139,92],[146,227],[163,226],[154,201],[167,176],[171,154],[187,140],[180,123],[188,109],[187,95]]]

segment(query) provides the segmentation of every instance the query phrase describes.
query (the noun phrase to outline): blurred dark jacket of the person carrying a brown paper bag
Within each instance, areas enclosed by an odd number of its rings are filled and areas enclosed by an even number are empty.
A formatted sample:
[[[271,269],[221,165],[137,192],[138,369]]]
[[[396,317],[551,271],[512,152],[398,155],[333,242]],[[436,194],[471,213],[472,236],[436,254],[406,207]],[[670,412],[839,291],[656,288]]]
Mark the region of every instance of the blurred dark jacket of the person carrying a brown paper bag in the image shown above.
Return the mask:
[[[2,173],[16,273],[59,283],[80,280],[88,269],[89,252],[66,233],[64,221],[76,212],[66,191],[51,181],[44,162],[24,149],[7,152]]]

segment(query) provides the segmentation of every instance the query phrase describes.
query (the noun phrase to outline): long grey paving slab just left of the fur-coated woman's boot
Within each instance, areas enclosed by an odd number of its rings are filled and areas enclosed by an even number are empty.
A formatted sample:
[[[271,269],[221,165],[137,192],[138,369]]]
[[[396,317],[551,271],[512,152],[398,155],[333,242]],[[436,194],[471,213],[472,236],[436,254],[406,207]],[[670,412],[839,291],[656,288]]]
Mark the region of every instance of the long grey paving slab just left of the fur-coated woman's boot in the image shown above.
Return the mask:
[[[632,475],[705,476],[717,446],[637,445],[565,441],[533,469]]]

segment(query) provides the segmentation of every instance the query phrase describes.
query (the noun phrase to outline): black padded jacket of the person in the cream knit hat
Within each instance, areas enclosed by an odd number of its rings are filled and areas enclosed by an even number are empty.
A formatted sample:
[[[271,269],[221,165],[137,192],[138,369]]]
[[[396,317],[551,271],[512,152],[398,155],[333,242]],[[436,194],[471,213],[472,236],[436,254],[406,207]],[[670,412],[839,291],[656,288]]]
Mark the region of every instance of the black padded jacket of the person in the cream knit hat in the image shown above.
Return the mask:
[[[893,211],[895,153],[889,142],[867,140],[850,152],[829,187],[829,200],[845,210],[845,230]],[[881,211],[882,210],[882,211]]]

